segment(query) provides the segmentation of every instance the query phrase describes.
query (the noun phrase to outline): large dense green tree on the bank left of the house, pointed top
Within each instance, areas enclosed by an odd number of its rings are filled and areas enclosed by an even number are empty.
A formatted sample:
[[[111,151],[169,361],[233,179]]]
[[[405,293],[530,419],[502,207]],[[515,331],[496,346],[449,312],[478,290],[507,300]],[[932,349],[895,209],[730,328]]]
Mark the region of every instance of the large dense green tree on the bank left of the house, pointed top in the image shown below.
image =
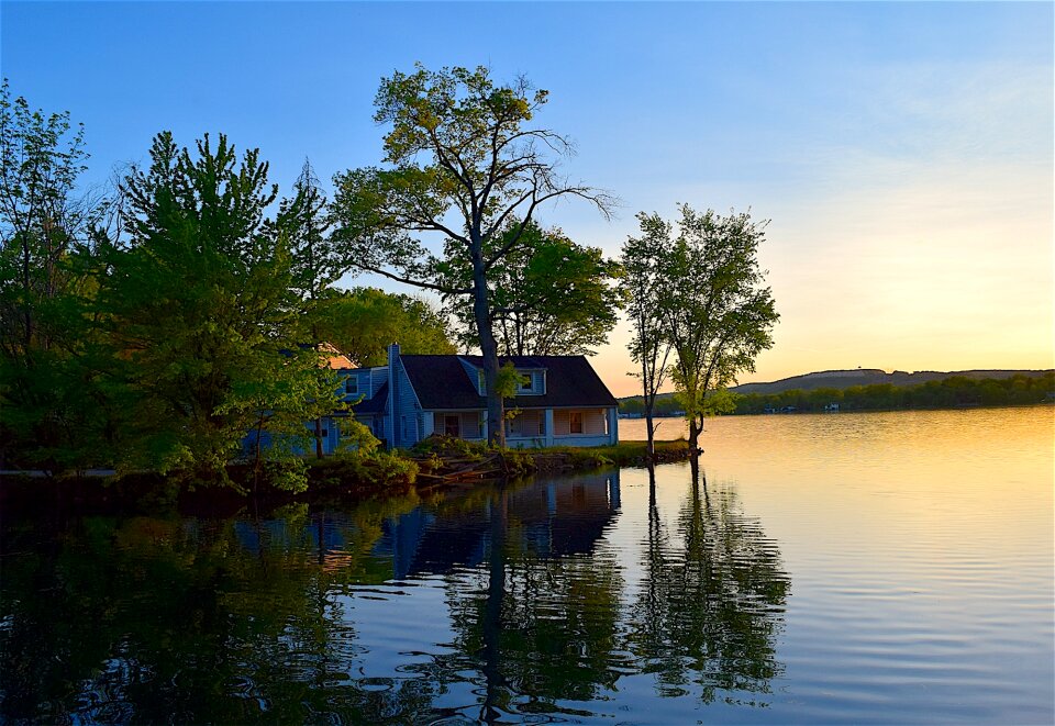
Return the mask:
[[[240,160],[207,135],[192,155],[165,132],[151,159],[124,181],[129,244],[104,250],[100,308],[137,400],[135,462],[212,474],[258,425],[262,389],[286,387],[290,416],[316,416],[336,386],[326,395],[320,355],[297,345],[289,233],[265,217],[277,189],[259,153]]]

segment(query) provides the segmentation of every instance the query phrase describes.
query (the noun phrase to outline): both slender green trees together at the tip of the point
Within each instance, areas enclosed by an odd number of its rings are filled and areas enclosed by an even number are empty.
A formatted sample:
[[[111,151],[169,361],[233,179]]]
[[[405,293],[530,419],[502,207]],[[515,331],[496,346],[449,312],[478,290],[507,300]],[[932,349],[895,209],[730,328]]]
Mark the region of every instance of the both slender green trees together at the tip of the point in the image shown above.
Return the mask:
[[[715,392],[754,370],[756,356],[773,345],[779,316],[758,267],[765,224],[746,213],[700,214],[688,205],[680,211],[677,236],[659,215],[640,214],[642,237],[628,242],[623,265],[636,314],[632,351],[643,362],[646,383],[652,381],[645,407],[652,409],[658,390],[658,373],[649,378],[648,368],[662,370],[660,351],[670,349],[671,380],[696,448],[703,416],[730,407]]]

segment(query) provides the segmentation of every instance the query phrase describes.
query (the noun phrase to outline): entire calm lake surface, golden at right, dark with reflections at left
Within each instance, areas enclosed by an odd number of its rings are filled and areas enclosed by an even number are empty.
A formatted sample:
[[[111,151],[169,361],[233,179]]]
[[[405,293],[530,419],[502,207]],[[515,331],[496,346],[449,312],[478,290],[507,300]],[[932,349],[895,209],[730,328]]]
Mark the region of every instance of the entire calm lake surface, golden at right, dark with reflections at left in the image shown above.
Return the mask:
[[[696,482],[4,513],[0,721],[1051,724],[1053,424],[728,417]]]

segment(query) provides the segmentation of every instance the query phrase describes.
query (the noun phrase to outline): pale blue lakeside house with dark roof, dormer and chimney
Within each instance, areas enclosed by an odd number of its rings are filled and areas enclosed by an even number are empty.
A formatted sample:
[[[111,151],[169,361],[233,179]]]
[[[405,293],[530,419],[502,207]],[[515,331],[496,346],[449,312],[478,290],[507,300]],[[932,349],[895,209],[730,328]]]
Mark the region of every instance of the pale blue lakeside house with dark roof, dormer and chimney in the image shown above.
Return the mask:
[[[512,356],[524,377],[507,411],[513,447],[602,446],[619,442],[618,402],[584,356]],[[356,421],[389,447],[413,446],[432,434],[487,440],[481,356],[403,355],[388,365],[338,371]],[[331,428],[335,428],[331,426]],[[332,449],[327,448],[326,451]]]

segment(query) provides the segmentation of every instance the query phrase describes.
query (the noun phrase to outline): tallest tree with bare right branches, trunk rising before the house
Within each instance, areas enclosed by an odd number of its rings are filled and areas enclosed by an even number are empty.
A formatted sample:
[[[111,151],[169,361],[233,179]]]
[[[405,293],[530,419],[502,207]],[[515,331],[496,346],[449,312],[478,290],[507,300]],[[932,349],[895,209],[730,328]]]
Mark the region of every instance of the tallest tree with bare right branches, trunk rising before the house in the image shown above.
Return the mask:
[[[337,175],[337,235],[359,270],[471,300],[484,357],[487,426],[504,444],[503,404],[496,390],[498,343],[488,280],[518,245],[540,205],[578,197],[607,213],[610,200],[558,175],[570,143],[548,129],[529,126],[547,92],[521,78],[496,85],[487,68],[396,72],[381,81],[375,121],[390,123],[385,161]],[[519,223],[510,224],[513,219]],[[414,235],[442,236],[443,253]],[[499,235],[504,235],[501,244]],[[451,287],[445,280],[462,278]]]

